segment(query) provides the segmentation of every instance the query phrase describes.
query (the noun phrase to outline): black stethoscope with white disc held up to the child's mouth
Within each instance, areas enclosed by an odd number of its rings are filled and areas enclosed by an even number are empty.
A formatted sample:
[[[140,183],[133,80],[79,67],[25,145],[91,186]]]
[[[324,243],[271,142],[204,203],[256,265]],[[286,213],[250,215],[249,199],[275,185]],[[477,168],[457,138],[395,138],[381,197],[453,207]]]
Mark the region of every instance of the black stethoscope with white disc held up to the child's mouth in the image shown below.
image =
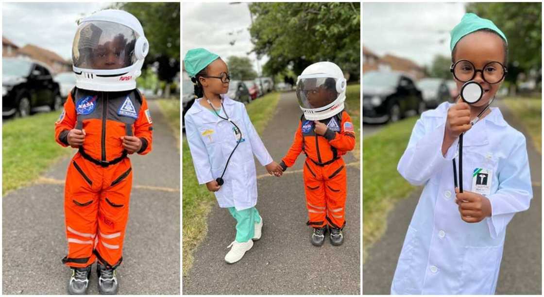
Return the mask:
[[[461,98],[463,101],[465,101],[468,104],[474,104],[478,101],[480,101],[481,97],[484,95],[484,89],[481,87],[481,85],[475,81],[469,81],[463,84],[461,86]],[[472,121],[471,126],[474,126],[475,123],[477,123],[480,120],[481,115],[483,115],[487,109],[491,106],[491,103],[493,103],[493,100],[495,100],[495,97],[491,98],[491,101],[487,104],[487,106],[482,110]],[[463,134],[459,135],[459,193],[463,193]],[[455,185],[455,188],[458,187],[457,183],[457,171],[455,166],[455,158],[452,160],[453,162],[453,182]]]

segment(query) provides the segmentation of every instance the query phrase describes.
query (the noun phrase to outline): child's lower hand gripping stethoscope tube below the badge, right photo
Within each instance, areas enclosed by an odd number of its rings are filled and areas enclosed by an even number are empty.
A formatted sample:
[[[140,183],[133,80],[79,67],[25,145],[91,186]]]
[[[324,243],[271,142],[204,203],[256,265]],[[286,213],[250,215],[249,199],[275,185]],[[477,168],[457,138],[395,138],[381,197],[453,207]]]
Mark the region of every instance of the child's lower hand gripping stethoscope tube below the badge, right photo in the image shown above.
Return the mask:
[[[487,216],[491,216],[491,202],[486,197],[473,192],[463,191],[455,188],[455,203],[459,205],[461,219],[466,222],[479,222]]]

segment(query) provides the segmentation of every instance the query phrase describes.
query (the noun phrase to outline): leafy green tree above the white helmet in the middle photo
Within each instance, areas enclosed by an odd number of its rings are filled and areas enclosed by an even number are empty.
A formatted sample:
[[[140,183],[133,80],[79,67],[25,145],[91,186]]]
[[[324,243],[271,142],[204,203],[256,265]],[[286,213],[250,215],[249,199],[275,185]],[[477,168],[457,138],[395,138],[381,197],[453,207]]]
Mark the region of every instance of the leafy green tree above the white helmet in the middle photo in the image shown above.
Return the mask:
[[[253,51],[270,57],[265,75],[300,73],[317,61],[332,61],[350,78],[360,76],[360,3],[259,2],[249,8]]]

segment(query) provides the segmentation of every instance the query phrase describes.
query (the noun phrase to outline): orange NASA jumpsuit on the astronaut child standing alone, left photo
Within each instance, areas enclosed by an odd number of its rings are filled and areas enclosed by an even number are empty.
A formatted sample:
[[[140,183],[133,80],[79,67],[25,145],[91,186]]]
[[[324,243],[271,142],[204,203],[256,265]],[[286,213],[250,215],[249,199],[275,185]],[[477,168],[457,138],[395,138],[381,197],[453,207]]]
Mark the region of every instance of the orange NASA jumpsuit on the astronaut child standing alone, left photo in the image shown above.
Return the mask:
[[[142,142],[139,154],[151,151],[152,120],[137,89],[120,92],[75,88],[55,122],[55,139],[68,146],[67,135],[84,129],[83,146],[72,158],[64,187],[64,214],[69,267],[87,267],[98,258],[116,268],[122,261],[123,238],[132,188],[131,162],[121,137]]]

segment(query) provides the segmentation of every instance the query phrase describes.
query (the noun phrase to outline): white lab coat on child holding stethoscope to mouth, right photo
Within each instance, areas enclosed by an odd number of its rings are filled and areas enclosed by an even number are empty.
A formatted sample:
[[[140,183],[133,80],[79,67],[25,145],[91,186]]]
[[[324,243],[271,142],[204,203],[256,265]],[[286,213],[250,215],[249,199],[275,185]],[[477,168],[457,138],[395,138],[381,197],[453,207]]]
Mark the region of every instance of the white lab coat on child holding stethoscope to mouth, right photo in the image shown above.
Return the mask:
[[[475,168],[492,170],[487,196],[492,215],[472,224],[461,220],[452,164],[458,140],[446,157],[441,150],[451,105],[442,103],[422,114],[398,164],[407,181],[425,187],[406,232],[391,294],[494,294],[506,225],[529,208],[533,197],[526,139],[492,108],[463,137],[463,190],[471,191]]]

